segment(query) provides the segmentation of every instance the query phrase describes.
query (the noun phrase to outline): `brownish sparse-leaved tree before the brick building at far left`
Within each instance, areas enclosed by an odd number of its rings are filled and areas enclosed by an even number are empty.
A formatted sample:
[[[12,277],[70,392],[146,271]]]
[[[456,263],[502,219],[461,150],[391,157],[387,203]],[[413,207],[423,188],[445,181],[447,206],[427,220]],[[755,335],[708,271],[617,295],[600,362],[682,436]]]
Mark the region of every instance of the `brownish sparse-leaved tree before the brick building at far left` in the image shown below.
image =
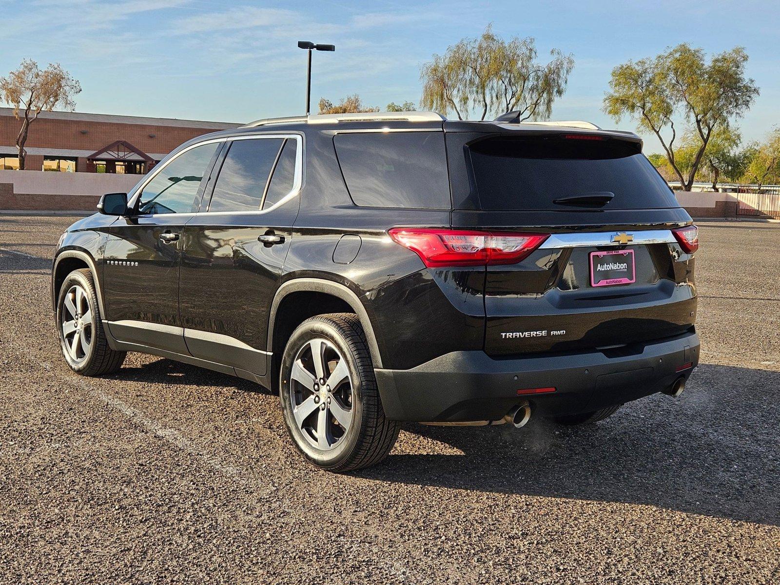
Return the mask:
[[[11,105],[13,115],[22,122],[16,137],[20,170],[24,170],[27,158],[24,145],[27,143],[30,124],[41,112],[51,112],[56,107],[73,111],[76,108],[73,97],[80,91],[80,83],[58,63],[50,63],[41,71],[36,62],[24,59],[19,69],[0,78],[0,98]]]

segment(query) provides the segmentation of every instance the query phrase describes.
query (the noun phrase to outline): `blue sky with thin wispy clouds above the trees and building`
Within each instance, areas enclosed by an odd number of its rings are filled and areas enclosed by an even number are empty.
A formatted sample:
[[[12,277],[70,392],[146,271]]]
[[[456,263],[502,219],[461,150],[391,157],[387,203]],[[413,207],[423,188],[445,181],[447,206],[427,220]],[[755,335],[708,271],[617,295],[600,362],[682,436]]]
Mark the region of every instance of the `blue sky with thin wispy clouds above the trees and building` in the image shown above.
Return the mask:
[[[740,122],[746,140],[780,123],[778,2],[219,2],[0,0],[0,75],[20,60],[60,62],[80,80],[80,112],[243,122],[303,113],[306,51],[312,99],[358,93],[368,105],[420,99],[420,64],[488,23],[535,37],[576,66],[553,119],[616,124],[601,113],[612,68],[687,41],[707,52],[736,44],[761,97]],[[647,138],[646,151],[658,151]]]

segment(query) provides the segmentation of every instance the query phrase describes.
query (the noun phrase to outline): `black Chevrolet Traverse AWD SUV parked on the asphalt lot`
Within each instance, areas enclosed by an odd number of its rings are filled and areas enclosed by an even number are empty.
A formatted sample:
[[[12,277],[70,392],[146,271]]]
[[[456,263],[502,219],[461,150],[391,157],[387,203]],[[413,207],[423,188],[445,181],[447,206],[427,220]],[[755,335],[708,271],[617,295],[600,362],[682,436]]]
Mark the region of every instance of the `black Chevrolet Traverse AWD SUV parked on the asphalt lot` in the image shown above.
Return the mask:
[[[69,367],[137,351],[256,381],[329,470],[380,461],[399,421],[601,420],[698,363],[697,228],[633,133],[260,120],[98,209],[54,258]]]

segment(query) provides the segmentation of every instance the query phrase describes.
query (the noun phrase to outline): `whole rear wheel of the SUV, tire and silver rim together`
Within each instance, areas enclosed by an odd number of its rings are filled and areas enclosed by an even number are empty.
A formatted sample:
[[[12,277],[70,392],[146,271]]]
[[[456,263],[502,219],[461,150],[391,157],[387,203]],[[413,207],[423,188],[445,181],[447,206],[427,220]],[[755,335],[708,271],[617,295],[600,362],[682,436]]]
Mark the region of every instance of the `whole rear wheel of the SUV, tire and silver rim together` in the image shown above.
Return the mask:
[[[382,410],[366,336],[356,315],[311,317],[293,332],[282,357],[279,398],[303,456],[326,470],[379,463],[399,424]]]

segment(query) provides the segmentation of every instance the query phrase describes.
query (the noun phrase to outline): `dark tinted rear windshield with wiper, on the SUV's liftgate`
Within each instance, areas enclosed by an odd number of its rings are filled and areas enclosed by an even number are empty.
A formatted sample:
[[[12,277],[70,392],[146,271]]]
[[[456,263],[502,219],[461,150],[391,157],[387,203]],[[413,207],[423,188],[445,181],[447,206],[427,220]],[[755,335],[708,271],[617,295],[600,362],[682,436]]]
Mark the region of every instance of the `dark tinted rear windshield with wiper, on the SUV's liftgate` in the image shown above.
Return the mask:
[[[498,137],[473,143],[469,151],[482,209],[679,207],[639,144],[626,140]]]

